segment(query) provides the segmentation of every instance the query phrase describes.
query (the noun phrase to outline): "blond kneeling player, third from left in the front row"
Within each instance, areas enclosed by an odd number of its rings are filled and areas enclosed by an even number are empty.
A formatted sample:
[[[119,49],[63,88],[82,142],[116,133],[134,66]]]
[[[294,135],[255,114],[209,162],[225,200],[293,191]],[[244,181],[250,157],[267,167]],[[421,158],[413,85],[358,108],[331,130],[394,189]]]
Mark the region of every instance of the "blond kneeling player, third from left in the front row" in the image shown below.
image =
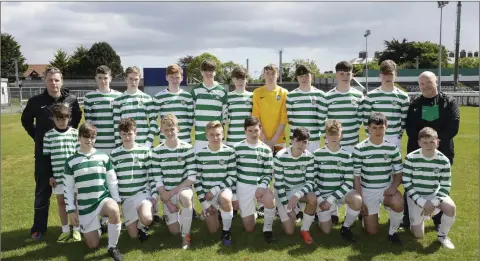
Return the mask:
[[[180,127],[175,115],[163,116],[160,126],[165,139],[152,150],[150,173],[160,192],[168,230],[174,235],[181,232],[182,248],[188,249],[194,211],[192,185],[197,174],[195,153],[192,145],[178,138]]]

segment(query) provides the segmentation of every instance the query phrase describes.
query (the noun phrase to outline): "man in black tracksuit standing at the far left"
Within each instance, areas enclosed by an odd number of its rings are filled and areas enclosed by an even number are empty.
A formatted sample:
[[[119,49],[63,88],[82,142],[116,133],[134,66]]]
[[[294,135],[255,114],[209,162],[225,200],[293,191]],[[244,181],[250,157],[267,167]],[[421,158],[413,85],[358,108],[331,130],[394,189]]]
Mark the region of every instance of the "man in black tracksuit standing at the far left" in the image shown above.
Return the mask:
[[[49,180],[53,177],[50,157],[43,155],[43,137],[54,127],[51,107],[54,103],[68,103],[70,106],[69,125],[78,128],[82,111],[77,97],[68,89],[62,89],[62,74],[56,68],[45,72],[46,89],[42,94],[31,97],[22,113],[22,125],[35,142],[35,214],[31,228],[32,239],[41,239],[47,229],[48,209],[52,187]],[[35,124],[34,124],[35,120]]]

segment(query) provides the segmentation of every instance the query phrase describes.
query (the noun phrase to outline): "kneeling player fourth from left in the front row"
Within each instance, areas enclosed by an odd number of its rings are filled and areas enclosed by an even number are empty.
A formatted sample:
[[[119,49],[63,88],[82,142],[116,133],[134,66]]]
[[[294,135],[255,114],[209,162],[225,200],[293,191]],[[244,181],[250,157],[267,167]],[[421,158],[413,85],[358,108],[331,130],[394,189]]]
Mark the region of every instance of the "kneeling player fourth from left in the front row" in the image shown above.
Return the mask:
[[[222,143],[223,128],[219,121],[209,122],[205,134],[208,145],[200,147],[196,155],[198,173],[195,190],[210,233],[218,231],[217,209],[220,209],[223,223],[221,240],[228,246],[232,243],[232,201],[236,200],[235,151]]]

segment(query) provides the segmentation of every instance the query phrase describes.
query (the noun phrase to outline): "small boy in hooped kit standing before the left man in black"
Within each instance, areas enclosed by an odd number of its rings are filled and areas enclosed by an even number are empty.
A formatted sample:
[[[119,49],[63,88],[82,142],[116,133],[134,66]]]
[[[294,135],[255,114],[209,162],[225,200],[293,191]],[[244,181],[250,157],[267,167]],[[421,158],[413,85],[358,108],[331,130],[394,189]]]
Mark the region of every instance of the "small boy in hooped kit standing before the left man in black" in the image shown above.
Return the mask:
[[[50,178],[50,186],[53,188],[53,194],[57,197],[58,215],[62,223],[62,233],[58,237],[57,242],[65,243],[70,238],[77,242],[81,241],[82,237],[79,226],[74,226],[73,233],[70,233],[68,214],[65,209],[65,198],[63,196],[63,172],[65,160],[78,149],[78,130],[68,126],[70,111],[67,103],[54,104],[52,115],[55,127],[45,133],[43,155],[49,156],[52,161],[53,177]]]

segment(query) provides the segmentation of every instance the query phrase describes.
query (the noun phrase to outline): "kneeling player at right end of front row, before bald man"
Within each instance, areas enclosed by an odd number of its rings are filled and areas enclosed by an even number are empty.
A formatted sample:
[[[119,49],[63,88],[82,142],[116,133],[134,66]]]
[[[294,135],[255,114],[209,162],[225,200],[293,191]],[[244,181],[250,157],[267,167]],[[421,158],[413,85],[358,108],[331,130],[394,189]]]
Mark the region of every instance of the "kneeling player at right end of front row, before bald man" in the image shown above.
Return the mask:
[[[418,134],[420,149],[411,152],[403,167],[403,186],[407,193],[410,230],[416,238],[424,235],[425,217],[443,211],[437,240],[444,247],[454,249],[447,237],[455,221],[456,206],[450,198],[452,175],[450,161],[437,150],[438,134],[429,127]]]

